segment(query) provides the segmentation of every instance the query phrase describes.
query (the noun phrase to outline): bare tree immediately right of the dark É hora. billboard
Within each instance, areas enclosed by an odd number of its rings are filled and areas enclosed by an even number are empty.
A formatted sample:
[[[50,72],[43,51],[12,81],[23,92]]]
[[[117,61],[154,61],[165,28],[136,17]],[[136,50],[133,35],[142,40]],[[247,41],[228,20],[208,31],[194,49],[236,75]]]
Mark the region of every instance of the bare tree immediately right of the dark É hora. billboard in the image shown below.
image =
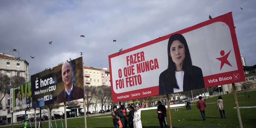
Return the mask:
[[[97,94],[97,90],[95,87],[84,87],[84,95],[85,95],[85,105],[87,111],[89,110],[89,106],[92,103],[93,97]],[[85,106],[84,106],[85,107]]]

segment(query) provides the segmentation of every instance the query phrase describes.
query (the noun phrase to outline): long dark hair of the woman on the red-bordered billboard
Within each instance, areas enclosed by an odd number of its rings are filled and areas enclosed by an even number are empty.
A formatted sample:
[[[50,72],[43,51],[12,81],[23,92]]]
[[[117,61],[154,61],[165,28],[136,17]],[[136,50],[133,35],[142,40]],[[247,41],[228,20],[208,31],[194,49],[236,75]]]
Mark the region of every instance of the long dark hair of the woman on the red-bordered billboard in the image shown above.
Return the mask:
[[[192,61],[191,61],[187,41],[183,37],[183,35],[182,34],[171,35],[171,37],[168,41],[168,46],[167,46],[167,52],[168,52],[168,69],[167,70],[168,70],[168,73],[167,73],[166,77],[169,80],[170,84],[173,85],[174,88],[180,89],[179,86],[177,85],[177,81],[176,81],[176,77],[175,77],[176,66],[170,56],[171,45],[172,45],[172,42],[175,40],[180,41],[184,45],[184,48],[185,48],[185,59],[184,59],[183,66],[182,66],[182,70],[184,72],[186,72],[185,73],[186,76],[184,76],[184,77],[190,78],[192,76],[192,70],[191,70],[192,69]],[[190,80],[193,80],[193,79],[190,79]]]

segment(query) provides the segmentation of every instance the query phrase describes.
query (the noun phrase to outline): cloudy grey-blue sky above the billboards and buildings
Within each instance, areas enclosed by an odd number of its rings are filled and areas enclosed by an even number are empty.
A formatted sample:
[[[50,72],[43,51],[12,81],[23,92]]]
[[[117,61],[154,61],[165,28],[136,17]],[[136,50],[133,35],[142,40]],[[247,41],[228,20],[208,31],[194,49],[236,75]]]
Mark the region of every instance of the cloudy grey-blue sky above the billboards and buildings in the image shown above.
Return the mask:
[[[80,52],[84,66],[109,69],[108,55],[120,48],[233,12],[240,53],[253,66],[255,5],[255,0],[1,0],[0,52],[27,60],[30,75],[80,57]]]

